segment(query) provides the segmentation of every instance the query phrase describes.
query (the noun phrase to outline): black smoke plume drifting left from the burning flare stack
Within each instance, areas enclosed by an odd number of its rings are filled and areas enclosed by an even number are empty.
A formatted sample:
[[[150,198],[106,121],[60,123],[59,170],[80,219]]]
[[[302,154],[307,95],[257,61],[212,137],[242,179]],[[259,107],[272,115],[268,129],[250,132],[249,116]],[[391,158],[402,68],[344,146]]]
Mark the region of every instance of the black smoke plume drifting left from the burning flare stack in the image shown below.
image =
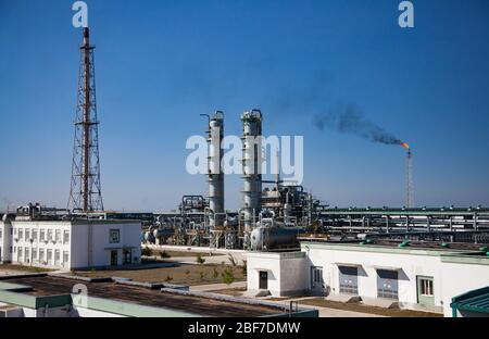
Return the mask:
[[[352,134],[363,139],[385,145],[400,145],[402,141],[383,127],[371,122],[355,105],[337,105],[314,117],[314,125],[324,130],[334,129],[342,134]]]

